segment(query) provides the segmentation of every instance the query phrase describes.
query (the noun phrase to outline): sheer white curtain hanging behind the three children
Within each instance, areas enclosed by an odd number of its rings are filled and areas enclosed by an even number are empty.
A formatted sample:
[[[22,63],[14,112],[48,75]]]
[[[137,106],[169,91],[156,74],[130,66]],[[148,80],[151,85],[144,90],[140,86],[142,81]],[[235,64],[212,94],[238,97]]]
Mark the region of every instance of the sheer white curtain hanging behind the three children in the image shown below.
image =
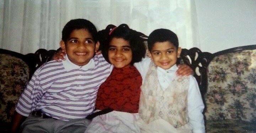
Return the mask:
[[[65,23],[85,18],[98,30],[126,23],[149,35],[174,31],[182,48],[199,47],[193,0],[0,0],[0,48],[27,54],[57,49]]]

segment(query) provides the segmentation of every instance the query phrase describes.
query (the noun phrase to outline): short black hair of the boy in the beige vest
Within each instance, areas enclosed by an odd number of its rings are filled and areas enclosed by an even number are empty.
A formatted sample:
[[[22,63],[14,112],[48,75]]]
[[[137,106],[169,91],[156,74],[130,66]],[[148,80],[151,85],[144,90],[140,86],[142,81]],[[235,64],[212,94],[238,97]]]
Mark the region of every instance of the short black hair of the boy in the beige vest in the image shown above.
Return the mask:
[[[156,42],[171,42],[176,48],[178,48],[177,35],[168,29],[156,29],[150,33],[148,37],[148,49],[151,52],[152,47]]]

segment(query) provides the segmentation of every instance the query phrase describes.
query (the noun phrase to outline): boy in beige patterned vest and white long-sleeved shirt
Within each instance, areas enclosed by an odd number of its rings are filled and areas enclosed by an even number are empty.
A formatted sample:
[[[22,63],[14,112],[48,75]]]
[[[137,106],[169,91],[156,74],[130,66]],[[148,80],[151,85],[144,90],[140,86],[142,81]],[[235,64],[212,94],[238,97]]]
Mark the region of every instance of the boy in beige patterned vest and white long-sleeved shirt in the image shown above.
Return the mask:
[[[149,57],[134,64],[143,78],[139,103],[142,133],[205,133],[204,104],[196,79],[177,76],[181,48],[167,29],[148,37]]]

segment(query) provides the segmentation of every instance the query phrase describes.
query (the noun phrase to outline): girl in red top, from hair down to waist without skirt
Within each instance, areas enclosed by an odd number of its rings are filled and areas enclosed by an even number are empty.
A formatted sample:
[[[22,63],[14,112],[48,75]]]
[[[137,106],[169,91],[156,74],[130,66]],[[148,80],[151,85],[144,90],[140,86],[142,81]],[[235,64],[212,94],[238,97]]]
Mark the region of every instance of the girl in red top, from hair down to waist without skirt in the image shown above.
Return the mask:
[[[145,56],[143,40],[137,31],[121,24],[111,29],[106,42],[102,54],[114,68],[98,90],[96,109],[137,113],[142,77],[133,64]]]

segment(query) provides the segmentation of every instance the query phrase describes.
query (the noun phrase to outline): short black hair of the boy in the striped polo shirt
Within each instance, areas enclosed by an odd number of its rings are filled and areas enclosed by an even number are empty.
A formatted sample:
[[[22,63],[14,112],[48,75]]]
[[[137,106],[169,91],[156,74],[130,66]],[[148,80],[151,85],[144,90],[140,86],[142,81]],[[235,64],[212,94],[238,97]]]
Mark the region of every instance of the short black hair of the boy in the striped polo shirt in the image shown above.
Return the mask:
[[[66,25],[64,26],[62,30],[62,40],[66,42],[70,34],[73,30],[79,30],[79,29],[86,29],[89,31],[89,33],[92,35],[92,39],[95,41],[95,43],[98,41],[97,39],[97,29],[90,21],[86,19],[72,19]]]

